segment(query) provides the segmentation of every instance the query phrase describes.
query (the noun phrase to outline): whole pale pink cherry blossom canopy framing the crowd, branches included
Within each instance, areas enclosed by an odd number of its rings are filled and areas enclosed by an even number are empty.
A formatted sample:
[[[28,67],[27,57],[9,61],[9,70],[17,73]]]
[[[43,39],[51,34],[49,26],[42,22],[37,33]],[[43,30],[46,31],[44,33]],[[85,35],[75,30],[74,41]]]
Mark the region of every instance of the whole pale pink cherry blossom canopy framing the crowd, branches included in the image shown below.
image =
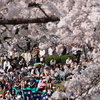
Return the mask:
[[[65,83],[74,98],[90,100],[100,94],[99,15],[100,0],[0,0],[0,42],[6,50],[30,41],[40,48],[61,43],[94,47],[94,64]]]

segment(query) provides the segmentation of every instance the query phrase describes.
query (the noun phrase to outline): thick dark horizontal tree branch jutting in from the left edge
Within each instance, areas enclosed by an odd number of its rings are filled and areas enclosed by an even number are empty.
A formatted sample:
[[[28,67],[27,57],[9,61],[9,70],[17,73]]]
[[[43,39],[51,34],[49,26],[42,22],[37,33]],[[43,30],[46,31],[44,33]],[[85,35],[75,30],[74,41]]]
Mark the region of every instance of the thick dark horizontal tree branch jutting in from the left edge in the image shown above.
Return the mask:
[[[49,18],[33,18],[33,19],[11,19],[11,20],[0,20],[0,25],[8,24],[8,25],[17,25],[17,24],[28,24],[28,23],[47,23],[47,22],[55,22],[60,21],[60,19],[56,16],[51,16]]]

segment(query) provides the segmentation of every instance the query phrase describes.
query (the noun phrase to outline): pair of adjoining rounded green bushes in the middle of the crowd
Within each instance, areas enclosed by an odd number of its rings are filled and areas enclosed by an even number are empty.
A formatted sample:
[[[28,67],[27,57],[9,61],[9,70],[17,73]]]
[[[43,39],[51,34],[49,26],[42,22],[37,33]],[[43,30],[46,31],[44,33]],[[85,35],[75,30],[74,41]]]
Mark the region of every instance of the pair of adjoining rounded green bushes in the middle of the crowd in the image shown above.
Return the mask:
[[[70,57],[72,60],[75,58],[74,55],[64,55],[64,56],[48,56],[45,58],[45,62],[47,65],[50,65],[50,60],[54,58],[57,63],[66,63],[66,59]]]

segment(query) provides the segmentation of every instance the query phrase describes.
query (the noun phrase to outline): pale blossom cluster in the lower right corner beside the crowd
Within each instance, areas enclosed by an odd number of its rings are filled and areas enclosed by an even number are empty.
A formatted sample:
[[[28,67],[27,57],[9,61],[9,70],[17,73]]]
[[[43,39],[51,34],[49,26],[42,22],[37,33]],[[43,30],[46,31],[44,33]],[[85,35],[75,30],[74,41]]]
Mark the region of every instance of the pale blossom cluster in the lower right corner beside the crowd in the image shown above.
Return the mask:
[[[84,98],[93,97],[100,93],[100,63],[88,63],[87,68],[77,72],[72,76],[70,81],[62,84],[67,87],[67,92],[73,92],[76,100],[84,100]]]

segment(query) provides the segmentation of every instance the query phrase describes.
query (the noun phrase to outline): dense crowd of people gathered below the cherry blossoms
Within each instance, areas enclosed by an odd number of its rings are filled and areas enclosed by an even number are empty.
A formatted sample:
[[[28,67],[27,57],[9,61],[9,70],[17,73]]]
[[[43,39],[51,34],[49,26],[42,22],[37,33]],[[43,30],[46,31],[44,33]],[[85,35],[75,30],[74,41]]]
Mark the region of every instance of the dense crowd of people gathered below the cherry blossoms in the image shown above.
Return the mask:
[[[23,50],[21,53],[14,48],[13,51],[4,53],[0,66],[0,91],[4,90],[1,98],[6,100],[25,99],[21,93],[21,90],[25,88],[38,88],[38,92],[44,91],[51,96],[55,91],[53,84],[71,79],[73,69],[81,74],[81,69],[86,67],[86,61],[82,48],[77,45],[72,45],[70,49],[70,54],[75,55],[74,60],[68,57],[62,64],[51,58],[50,65],[45,63],[44,59],[47,56],[67,55],[66,46],[62,45],[60,49],[59,54],[53,46],[47,50],[34,47],[32,51]],[[12,88],[16,88],[18,92],[13,91],[12,93]],[[56,100],[56,98],[54,99]]]

